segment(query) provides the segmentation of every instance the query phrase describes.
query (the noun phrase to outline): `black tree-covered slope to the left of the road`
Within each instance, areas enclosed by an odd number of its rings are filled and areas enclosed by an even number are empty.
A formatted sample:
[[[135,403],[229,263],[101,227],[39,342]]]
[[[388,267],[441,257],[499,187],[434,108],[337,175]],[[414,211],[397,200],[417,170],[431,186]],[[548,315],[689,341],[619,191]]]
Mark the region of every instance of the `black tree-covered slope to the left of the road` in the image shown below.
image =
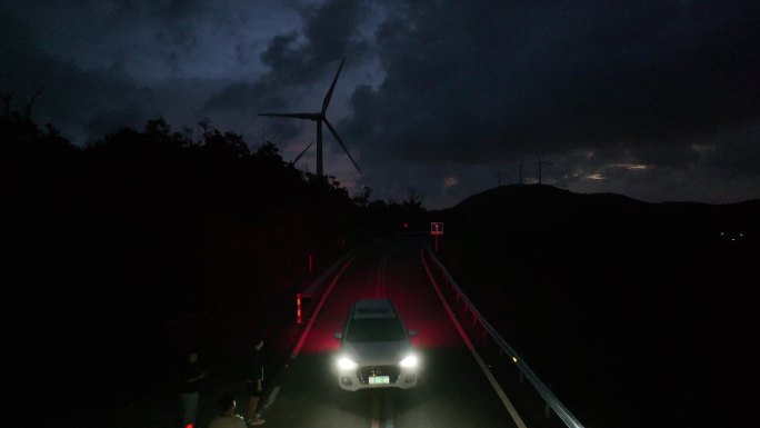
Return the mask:
[[[19,309],[53,326],[56,345],[78,344],[64,361],[72,371],[109,360],[144,368],[124,385],[160,378],[182,344],[231,340],[240,326],[290,313],[309,257],[316,275],[423,211],[416,197],[370,201],[369,188],[351,199],[271,141],[251,150],[241,135],[199,126],[198,141],[157,118],[76,147],[26,115],[0,121]]]

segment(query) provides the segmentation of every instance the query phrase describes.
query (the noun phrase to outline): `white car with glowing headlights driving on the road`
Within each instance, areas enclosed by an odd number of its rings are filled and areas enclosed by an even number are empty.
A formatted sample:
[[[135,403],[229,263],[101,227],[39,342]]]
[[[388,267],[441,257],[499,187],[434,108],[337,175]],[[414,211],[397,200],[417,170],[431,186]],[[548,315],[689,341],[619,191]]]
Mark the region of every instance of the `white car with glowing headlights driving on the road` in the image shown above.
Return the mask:
[[[336,358],[338,385],[348,391],[417,386],[420,358],[393,302],[360,299],[351,303]]]

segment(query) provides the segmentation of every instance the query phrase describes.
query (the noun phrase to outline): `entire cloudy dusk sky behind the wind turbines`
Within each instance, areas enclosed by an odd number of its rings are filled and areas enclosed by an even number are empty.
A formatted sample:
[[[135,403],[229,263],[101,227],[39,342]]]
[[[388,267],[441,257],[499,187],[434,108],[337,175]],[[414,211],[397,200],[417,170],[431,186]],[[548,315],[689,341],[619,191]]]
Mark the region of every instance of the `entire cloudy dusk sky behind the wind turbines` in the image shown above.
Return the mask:
[[[550,3],[550,6],[549,6]],[[0,91],[78,143],[163,116],[287,160],[346,56],[326,173],[446,208],[537,179],[646,201],[760,198],[757,1],[0,0]],[[313,151],[300,168],[314,171]]]

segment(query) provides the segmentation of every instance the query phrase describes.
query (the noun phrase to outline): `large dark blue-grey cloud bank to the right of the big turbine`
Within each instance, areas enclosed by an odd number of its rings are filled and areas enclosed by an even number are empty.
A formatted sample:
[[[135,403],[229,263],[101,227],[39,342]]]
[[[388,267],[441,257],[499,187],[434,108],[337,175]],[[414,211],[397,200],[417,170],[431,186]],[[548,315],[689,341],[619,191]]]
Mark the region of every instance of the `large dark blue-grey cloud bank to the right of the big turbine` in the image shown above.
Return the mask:
[[[757,119],[757,8],[506,3],[426,2],[388,20],[377,40],[388,79],[354,93],[353,136],[479,163],[679,145]]]

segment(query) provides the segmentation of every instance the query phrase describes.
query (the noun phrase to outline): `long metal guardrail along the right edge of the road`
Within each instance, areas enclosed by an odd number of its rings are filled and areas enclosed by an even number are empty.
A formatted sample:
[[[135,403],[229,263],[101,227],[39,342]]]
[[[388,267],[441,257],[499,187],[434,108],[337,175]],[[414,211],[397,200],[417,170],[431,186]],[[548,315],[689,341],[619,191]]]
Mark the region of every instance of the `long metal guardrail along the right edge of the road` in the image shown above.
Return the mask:
[[[576,418],[570,410],[554,396],[554,394],[539,379],[539,377],[533,372],[533,370],[520,358],[520,356],[514,351],[507,340],[504,340],[501,335],[488,322],[488,320],[480,313],[478,308],[470,301],[470,299],[464,295],[457,281],[454,281],[449,270],[446,269],[443,263],[436,257],[436,255],[427,249],[430,260],[436,265],[438,271],[443,276],[443,278],[449,282],[451,288],[457,293],[457,297],[461,299],[467,308],[472,312],[472,316],[483,327],[488,335],[493,339],[493,341],[501,348],[501,350],[512,358],[514,365],[520,370],[520,372],[530,381],[530,384],[536,388],[536,391],[543,398],[549,408],[551,408],[554,414],[564,422],[569,428],[583,428],[583,425]]]

